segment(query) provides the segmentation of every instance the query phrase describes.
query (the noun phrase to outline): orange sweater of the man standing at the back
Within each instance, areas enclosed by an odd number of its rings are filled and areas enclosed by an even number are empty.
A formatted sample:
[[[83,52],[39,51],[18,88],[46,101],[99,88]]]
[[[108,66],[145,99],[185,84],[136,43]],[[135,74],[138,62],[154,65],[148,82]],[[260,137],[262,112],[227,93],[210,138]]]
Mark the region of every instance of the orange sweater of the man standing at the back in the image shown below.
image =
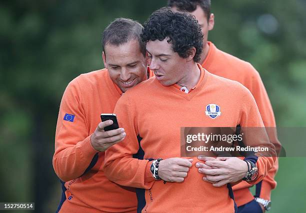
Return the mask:
[[[271,103],[265,91],[261,78],[255,68],[248,62],[223,52],[208,41],[209,51],[202,64],[203,68],[210,73],[236,80],[243,84],[252,93],[257,107],[259,109],[262,121],[266,127],[275,127],[275,119]],[[273,143],[275,149],[280,149],[280,143],[276,136],[275,128],[267,128],[270,142]],[[262,182],[256,185],[256,196],[263,199],[270,199],[271,189],[276,187],[274,176],[278,169],[278,161],[276,160],[272,169],[263,178]],[[243,205],[254,197],[248,190],[251,185],[245,181],[233,186],[235,201],[238,206]]]

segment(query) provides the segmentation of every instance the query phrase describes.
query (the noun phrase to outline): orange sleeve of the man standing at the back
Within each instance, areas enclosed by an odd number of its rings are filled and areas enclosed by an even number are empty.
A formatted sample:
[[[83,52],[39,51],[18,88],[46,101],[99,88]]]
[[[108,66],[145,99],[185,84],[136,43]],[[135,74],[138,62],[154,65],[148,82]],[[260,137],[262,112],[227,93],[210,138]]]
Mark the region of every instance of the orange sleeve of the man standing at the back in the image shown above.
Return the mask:
[[[254,70],[254,74],[251,78],[252,81],[251,85],[249,86],[249,90],[255,98],[263,124],[266,127],[266,132],[268,134],[269,141],[273,143],[276,154],[278,155],[281,149],[281,144],[277,138],[276,123],[273,114],[273,109],[259,73],[252,65],[250,65],[250,68]],[[270,170],[268,170],[267,175],[263,177],[262,182],[256,185],[256,196],[270,200],[271,190],[276,187],[276,181],[274,180],[274,177],[277,172],[277,169],[278,159],[276,158],[274,166]]]

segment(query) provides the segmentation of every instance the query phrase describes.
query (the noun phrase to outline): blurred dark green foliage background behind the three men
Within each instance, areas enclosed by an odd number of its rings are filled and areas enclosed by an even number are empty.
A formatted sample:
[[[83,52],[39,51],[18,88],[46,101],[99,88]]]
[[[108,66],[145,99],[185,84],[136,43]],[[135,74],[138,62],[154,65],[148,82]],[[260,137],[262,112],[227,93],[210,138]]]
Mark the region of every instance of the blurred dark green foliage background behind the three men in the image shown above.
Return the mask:
[[[259,71],[278,126],[306,126],[306,1],[211,1],[209,40]],[[34,201],[37,212],[55,211],[61,191],[52,155],[65,86],[103,67],[101,32],[110,21],[143,23],[165,4],[1,0],[0,201]],[[305,157],[279,159],[270,212],[306,212],[305,165]]]

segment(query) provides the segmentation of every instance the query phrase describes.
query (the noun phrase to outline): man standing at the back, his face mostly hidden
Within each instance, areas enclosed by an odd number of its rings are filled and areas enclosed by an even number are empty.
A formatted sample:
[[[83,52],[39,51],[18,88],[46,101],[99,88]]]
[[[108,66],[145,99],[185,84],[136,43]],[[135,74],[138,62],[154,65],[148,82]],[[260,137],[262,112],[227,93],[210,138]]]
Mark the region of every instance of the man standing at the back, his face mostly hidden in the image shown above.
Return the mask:
[[[199,63],[210,73],[236,80],[250,90],[256,100],[263,123],[268,127],[269,139],[276,150],[279,150],[280,143],[275,128],[271,128],[276,126],[273,110],[259,73],[250,63],[219,50],[212,42],[207,41],[208,31],[212,30],[214,26],[214,14],[210,11],[210,0],[168,0],[167,5],[171,6],[173,11],[188,12],[198,20],[203,32],[203,51]],[[205,166],[204,164],[200,165]],[[276,161],[274,167],[256,185],[255,199],[249,191],[250,185],[248,183],[241,182],[233,186],[235,201],[240,212],[243,212],[242,209],[245,212],[260,211],[259,205],[262,211],[270,208],[270,194],[276,186],[274,176],[277,168]]]

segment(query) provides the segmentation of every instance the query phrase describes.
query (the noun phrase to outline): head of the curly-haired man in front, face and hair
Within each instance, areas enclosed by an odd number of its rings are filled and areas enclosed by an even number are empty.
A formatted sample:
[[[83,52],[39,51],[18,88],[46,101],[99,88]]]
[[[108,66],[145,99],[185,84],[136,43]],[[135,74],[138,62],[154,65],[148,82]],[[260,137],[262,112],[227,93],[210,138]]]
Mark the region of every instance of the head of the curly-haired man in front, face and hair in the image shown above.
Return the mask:
[[[191,89],[200,76],[196,62],[200,60],[203,46],[203,34],[197,20],[191,15],[175,14],[169,8],[162,8],[151,14],[144,27],[141,37],[147,42],[148,64],[154,70],[156,79],[162,85],[177,83]],[[150,50],[156,48],[163,50],[158,55],[164,61],[162,69],[157,69],[151,60]],[[188,71],[182,72],[182,67]]]

